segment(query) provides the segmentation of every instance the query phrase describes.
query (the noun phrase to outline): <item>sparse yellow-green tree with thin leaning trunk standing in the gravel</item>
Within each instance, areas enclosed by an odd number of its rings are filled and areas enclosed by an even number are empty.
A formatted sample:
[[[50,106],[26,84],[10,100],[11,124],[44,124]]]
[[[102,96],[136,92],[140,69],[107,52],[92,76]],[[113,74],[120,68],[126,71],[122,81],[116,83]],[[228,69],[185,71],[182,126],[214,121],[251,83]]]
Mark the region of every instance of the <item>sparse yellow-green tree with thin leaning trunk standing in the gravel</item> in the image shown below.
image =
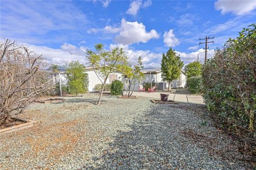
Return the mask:
[[[100,104],[101,96],[109,75],[112,72],[122,70],[126,65],[127,56],[125,55],[123,48],[114,48],[111,51],[106,51],[103,49],[103,44],[96,44],[94,47],[95,52],[87,50],[86,58],[91,62],[95,74],[102,83],[101,93],[98,100],[98,104]]]

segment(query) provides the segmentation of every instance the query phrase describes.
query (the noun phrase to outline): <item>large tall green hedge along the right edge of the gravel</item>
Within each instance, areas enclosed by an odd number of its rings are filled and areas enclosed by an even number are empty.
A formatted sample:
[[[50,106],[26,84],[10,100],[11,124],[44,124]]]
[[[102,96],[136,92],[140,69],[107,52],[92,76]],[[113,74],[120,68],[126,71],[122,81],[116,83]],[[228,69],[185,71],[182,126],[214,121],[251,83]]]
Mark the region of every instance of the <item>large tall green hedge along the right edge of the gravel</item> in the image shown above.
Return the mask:
[[[203,98],[222,127],[256,156],[256,24],[229,39],[202,70]],[[246,139],[246,140],[245,140]]]

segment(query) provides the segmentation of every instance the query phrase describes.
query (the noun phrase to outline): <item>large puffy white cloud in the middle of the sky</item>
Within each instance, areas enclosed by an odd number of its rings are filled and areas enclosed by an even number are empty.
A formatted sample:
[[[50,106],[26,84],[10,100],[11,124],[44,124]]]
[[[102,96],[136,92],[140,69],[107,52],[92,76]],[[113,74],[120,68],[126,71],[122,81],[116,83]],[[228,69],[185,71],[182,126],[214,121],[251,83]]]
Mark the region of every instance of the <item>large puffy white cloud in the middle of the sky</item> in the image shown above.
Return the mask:
[[[119,44],[147,43],[152,38],[159,38],[157,31],[152,29],[148,33],[143,23],[121,21],[120,32],[116,35],[114,42]]]

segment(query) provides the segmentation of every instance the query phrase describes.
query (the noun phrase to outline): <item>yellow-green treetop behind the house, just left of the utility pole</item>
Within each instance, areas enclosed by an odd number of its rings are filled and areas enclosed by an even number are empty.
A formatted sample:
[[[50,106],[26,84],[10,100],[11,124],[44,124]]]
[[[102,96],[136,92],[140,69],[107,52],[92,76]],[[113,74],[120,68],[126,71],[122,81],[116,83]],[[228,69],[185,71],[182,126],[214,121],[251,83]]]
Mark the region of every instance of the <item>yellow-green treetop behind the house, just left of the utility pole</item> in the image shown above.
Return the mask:
[[[203,65],[199,61],[194,61],[185,66],[185,74],[187,78],[193,76],[202,76]]]

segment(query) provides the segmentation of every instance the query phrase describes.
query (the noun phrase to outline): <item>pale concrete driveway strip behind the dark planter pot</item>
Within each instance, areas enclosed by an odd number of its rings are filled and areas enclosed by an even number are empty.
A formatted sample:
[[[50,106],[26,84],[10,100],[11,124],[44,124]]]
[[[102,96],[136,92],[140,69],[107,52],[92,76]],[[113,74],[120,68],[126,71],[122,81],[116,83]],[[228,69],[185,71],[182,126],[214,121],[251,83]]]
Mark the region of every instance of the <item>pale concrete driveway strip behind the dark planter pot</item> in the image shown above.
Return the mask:
[[[169,100],[174,100],[177,102],[204,104],[204,100],[201,95],[177,94],[177,93],[168,93],[168,92],[154,92],[154,93],[133,92],[133,95],[154,98],[154,99],[160,99],[160,93],[169,94],[169,98],[168,98]]]

